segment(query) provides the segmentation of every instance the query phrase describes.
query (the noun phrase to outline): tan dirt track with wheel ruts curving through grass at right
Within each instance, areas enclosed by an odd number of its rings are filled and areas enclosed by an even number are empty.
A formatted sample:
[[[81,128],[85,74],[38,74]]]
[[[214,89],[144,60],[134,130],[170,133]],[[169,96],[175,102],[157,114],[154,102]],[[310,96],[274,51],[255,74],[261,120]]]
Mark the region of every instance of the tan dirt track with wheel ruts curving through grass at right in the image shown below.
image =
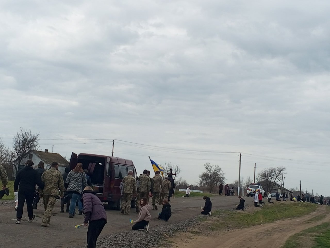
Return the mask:
[[[314,222],[307,222],[315,216],[326,215],[327,206],[319,206],[317,211],[299,217],[287,219],[271,224],[259,225],[244,229],[225,231],[210,236],[190,235],[188,239],[180,237],[173,240],[173,247],[203,247],[203,248],[278,248],[281,247],[290,236],[307,228],[320,225],[330,220],[330,215],[324,219]],[[257,240],[257,242],[255,241]]]

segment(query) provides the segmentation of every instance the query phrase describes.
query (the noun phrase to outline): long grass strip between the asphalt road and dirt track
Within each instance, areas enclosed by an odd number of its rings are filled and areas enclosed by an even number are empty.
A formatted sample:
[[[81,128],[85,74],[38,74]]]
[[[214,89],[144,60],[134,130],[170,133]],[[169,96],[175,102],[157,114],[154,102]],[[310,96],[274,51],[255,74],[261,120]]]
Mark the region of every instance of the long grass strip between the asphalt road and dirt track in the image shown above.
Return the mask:
[[[285,218],[294,218],[312,213],[316,210],[317,204],[306,203],[277,203],[267,204],[255,212],[237,211],[215,211],[212,215],[215,221],[210,229],[219,230],[223,228],[242,228],[255,225],[271,223]],[[253,207],[251,207],[253,208]]]

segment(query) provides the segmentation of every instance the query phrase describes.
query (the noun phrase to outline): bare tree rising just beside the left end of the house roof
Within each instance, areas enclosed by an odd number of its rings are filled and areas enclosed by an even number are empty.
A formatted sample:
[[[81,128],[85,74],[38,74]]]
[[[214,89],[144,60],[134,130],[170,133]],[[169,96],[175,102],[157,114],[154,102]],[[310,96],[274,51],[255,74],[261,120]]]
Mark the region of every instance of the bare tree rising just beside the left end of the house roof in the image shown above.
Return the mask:
[[[14,155],[12,158],[12,164],[15,167],[16,173],[19,168],[19,165],[24,158],[24,155],[29,150],[36,150],[39,148],[39,133],[32,133],[31,130],[27,131],[23,128],[20,128],[17,131],[16,136],[13,138],[13,149]],[[17,159],[17,163],[13,163]]]

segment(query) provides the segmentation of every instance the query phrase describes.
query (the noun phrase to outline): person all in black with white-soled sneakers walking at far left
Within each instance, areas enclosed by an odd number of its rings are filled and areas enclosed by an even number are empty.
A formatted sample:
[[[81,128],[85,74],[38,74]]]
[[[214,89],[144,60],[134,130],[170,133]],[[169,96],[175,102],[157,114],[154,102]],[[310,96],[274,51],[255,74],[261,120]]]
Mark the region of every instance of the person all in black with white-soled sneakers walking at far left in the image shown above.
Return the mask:
[[[39,173],[33,169],[32,160],[27,160],[25,167],[20,170],[14,182],[14,191],[18,190],[18,206],[16,213],[16,224],[20,224],[23,216],[23,207],[26,201],[29,222],[32,222],[36,216],[33,215],[33,198],[36,190],[36,184],[39,188],[44,189],[44,183],[41,181]]]

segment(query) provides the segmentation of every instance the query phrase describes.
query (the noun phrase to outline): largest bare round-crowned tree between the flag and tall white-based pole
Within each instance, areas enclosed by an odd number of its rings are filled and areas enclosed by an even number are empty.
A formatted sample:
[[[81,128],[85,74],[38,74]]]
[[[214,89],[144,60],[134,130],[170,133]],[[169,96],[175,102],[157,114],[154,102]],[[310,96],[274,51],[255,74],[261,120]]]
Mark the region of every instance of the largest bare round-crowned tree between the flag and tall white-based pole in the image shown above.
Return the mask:
[[[225,180],[224,172],[222,169],[216,165],[211,165],[210,163],[204,164],[205,172],[199,175],[200,179],[200,186],[207,187],[210,193],[212,192],[213,188],[223,183]]]

